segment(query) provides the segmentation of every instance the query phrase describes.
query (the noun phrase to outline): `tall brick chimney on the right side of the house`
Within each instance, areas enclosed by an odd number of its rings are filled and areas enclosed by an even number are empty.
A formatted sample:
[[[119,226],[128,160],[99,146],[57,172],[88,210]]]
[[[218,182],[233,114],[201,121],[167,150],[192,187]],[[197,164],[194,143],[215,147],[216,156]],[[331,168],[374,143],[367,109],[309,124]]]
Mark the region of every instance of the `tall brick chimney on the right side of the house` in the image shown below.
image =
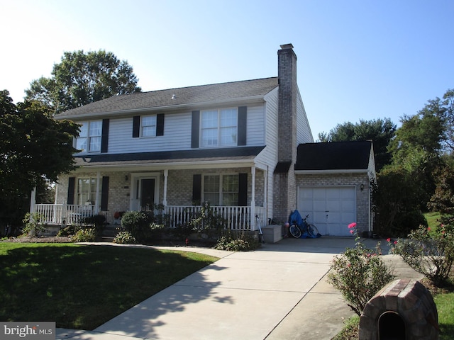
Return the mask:
[[[287,220],[297,208],[294,164],[297,159],[297,55],[292,44],[277,51],[279,108],[277,128],[277,166],[275,169],[274,218]]]

